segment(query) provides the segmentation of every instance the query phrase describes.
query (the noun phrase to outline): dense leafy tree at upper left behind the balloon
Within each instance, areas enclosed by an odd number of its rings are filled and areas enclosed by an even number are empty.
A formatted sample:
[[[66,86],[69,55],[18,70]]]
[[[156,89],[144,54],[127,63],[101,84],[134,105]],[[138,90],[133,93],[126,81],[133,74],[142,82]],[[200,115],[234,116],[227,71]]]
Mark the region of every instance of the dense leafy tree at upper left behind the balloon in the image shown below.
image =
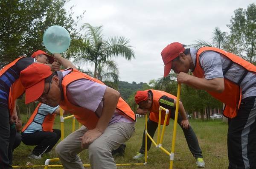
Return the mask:
[[[3,0],[0,3],[0,68],[17,56],[30,56],[43,46],[44,31],[52,25],[76,36],[75,20],[64,9],[66,0]],[[81,16],[80,16],[81,17]],[[80,17],[77,17],[79,20]]]

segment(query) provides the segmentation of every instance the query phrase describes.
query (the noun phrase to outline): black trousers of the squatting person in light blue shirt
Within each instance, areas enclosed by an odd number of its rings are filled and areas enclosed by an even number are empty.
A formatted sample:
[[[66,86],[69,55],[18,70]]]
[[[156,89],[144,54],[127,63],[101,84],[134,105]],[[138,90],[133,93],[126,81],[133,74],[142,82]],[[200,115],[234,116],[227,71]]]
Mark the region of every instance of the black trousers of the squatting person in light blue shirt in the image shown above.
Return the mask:
[[[43,155],[51,151],[53,146],[61,138],[61,130],[53,129],[53,132],[36,131],[33,133],[22,132],[22,142],[29,146],[35,146],[32,153],[34,155]]]

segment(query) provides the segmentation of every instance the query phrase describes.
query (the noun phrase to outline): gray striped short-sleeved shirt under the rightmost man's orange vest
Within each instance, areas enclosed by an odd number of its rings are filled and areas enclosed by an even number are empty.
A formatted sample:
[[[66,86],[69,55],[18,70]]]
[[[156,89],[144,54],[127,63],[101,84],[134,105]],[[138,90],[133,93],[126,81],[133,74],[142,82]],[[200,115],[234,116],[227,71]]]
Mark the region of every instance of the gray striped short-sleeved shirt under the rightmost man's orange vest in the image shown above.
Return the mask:
[[[192,61],[195,65],[197,50],[190,48]],[[223,72],[230,65],[231,61],[226,56],[215,51],[205,51],[200,56],[200,63],[204,70],[204,76],[208,79],[227,78],[232,82],[238,83],[243,74],[247,71],[240,65],[233,63],[223,75]],[[256,96],[256,74],[248,72],[240,83],[242,99]]]

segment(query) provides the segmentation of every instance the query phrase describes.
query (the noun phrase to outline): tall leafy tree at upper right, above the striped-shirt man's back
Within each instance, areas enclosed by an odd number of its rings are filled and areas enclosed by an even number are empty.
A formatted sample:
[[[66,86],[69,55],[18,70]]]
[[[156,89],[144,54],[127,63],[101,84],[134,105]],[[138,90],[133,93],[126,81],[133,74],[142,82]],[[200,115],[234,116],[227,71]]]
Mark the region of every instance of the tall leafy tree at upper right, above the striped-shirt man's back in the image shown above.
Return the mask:
[[[256,60],[256,5],[250,4],[247,10],[238,8],[234,13],[227,25],[230,51],[253,63]]]

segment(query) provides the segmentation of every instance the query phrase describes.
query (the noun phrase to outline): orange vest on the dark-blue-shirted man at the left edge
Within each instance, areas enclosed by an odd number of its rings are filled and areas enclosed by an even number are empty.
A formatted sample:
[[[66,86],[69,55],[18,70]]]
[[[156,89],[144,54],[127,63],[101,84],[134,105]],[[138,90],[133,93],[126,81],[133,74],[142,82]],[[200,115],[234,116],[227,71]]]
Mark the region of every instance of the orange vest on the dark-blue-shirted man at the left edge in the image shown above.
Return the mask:
[[[13,65],[15,65],[20,59],[24,58],[24,56],[19,57],[3,67],[3,69],[0,70],[0,76],[2,76],[9,68],[11,68]],[[25,92],[25,88],[20,82],[20,78],[16,79],[14,83],[12,83],[10,90],[9,90],[9,98],[8,98],[8,108],[9,113],[12,115],[13,109],[15,108],[15,100],[20,97]]]

